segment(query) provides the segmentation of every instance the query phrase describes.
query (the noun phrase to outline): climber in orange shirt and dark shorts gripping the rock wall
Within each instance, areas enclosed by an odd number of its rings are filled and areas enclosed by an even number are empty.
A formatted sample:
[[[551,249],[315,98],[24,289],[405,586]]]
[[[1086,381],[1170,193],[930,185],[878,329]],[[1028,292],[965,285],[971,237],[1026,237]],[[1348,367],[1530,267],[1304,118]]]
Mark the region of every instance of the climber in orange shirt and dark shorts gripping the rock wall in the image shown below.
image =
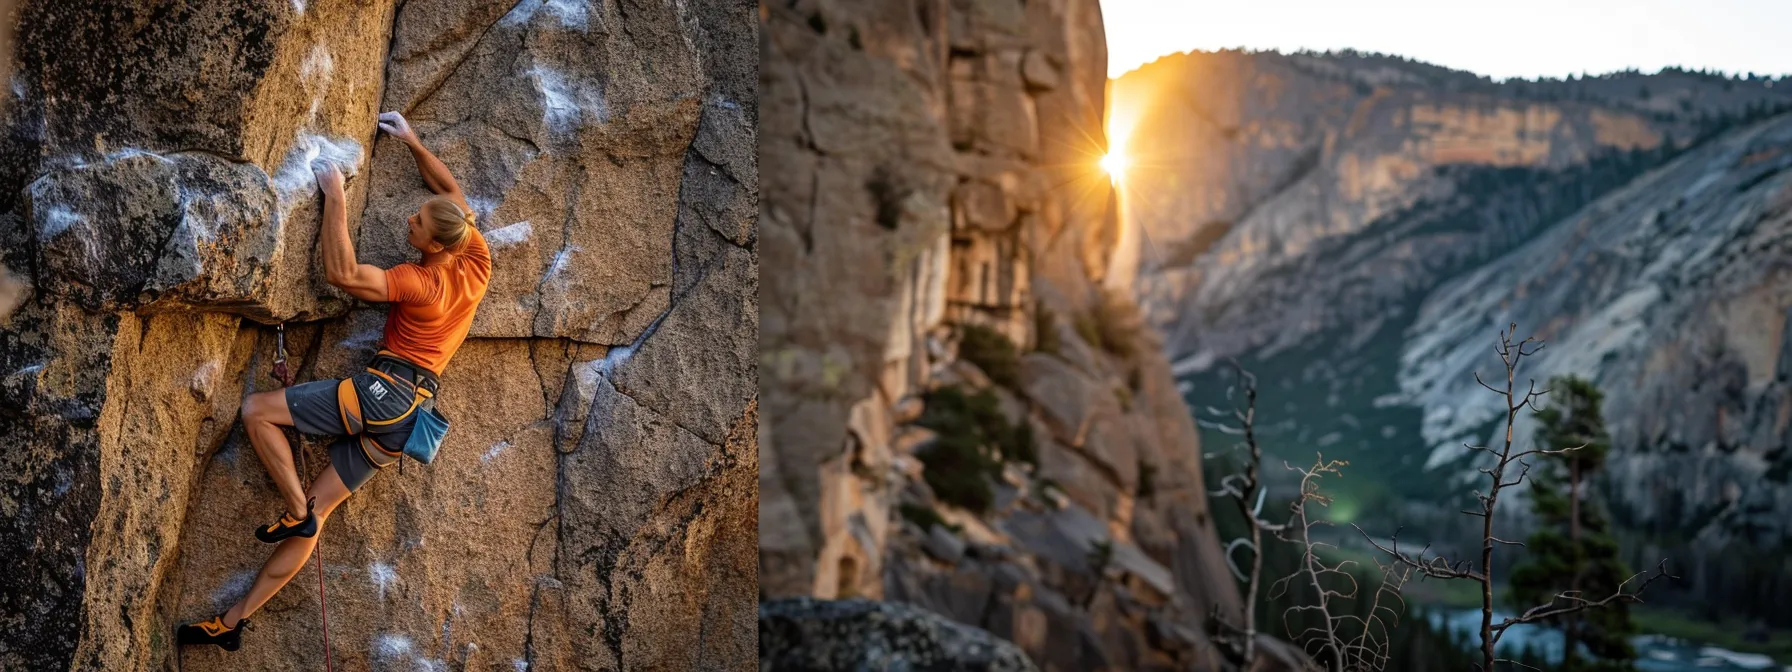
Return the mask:
[[[391,269],[358,263],[348,235],[342,172],[333,163],[312,167],[324,197],[319,235],[324,276],[349,296],[391,303],[385,339],[373,362],[349,378],[254,392],[244,401],[244,432],[287,505],[278,521],[258,527],[254,536],[278,547],[242,600],[222,615],[181,625],[179,643],[215,643],[237,650],[249,615],[305,566],[330,513],[375,470],[405,455],[419,416],[434,409],[441,391],[437,376],[461,348],[486,296],[491,254],[473,226],[473,208],[448,167],[423,147],[403,115],[382,113],[380,131],[410,149],[418,172],[435,194],[409,219],[407,242],[423,258]],[[310,491],[301,491],[292,446],[281,426],[335,437],[330,466],[312,480]]]

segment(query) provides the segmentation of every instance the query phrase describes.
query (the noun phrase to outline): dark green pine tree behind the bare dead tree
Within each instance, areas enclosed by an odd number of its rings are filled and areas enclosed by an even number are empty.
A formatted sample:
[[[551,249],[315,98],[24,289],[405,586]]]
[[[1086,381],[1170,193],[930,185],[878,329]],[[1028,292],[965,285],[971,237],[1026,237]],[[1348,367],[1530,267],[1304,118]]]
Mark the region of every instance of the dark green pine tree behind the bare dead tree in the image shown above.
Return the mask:
[[[1631,575],[1618,557],[1618,541],[1597,502],[1588,500],[1588,480],[1606,464],[1611,435],[1600,416],[1604,394],[1591,382],[1557,376],[1550,382],[1548,407],[1538,412],[1539,448],[1573,448],[1546,455],[1530,471],[1530,504],[1538,529],[1525,541],[1527,563],[1512,570],[1511,591],[1516,604],[1550,604],[1557,593],[1609,595]],[[1550,627],[1563,631],[1566,643],[1561,670],[1634,670],[1629,606],[1609,604],[1557,616]],[[1579,656],[1584,645],[1595,659]]]

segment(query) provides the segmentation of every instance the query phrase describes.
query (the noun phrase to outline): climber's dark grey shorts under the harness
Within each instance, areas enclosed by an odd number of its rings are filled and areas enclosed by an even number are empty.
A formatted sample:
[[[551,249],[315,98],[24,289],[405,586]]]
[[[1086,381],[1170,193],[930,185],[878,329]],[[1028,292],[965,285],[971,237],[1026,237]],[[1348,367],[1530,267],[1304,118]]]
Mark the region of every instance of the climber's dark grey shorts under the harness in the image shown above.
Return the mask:
[[[351,391],[344,389],[344,380]],[[375,471],[398,462],[416,425],[416,389],[362,371],[287,387],[287,410],[299,432],[335,437],[330,464],[353,493]]]

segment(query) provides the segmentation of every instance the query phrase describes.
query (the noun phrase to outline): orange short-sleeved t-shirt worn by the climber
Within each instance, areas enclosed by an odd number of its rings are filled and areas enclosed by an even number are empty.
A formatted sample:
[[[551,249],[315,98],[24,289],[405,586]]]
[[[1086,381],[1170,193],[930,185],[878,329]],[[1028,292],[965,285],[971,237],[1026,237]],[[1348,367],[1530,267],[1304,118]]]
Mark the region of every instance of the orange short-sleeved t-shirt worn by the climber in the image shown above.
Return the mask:
[[[435,375],[466,340],[473,308],[491,281],[491,251],[478,228],[470,228],[466,249],[444,263],[405,262],[385,271],[385,349]]]

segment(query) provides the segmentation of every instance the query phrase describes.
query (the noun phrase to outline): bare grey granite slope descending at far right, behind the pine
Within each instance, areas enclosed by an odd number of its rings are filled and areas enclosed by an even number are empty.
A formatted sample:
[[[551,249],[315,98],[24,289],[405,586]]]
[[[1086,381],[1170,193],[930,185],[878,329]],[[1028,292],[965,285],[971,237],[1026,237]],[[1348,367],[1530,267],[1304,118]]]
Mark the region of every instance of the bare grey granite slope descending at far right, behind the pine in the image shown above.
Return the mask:
[[[1602,487],[1629,525],[1710,548],[1792,545],[1792,116],[1701,143],[1419,305],[1400,385],[1430,462],[1480,441],[1486,333],[1534,324],[1530,364],[1593,378],[1622,459]],[[1502,281],[1491,281],[1502,278]],[[1496,362],[1495,362],[1496,364]],[[1443,409],[1448,409],[1444,412]],[[1532,419],[1521,418],[1520,432]]]

